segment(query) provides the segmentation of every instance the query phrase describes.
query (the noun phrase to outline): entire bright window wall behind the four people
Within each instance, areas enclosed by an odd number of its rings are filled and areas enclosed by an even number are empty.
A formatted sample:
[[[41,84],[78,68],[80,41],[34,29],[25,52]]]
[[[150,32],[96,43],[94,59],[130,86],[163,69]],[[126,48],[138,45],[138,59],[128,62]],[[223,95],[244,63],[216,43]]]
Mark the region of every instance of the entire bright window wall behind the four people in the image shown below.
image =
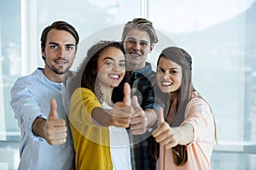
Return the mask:
[[[0,169],[19,163],[20,129],[10,88],[17,77],[44,66],[44,27],[67,20],[83,41],[138,16],[153,21],[160,35],[148,58],[153,65],[169,45],[193,58],[195,88],[212,106],[218,127],[212,169],[256,168],[255,0],[9,0],[0,1]],[[73,70],[80,59],[75,61]]]

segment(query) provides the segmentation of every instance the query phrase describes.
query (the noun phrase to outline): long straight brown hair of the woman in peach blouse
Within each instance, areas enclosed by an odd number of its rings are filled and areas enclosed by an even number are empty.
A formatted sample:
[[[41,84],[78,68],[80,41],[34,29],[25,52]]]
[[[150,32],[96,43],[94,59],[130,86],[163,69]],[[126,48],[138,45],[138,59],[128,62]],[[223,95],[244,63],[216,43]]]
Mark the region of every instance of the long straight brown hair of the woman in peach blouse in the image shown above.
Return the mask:
[[[185,50],[177,47],[165,48],[160,54],[157,65],[159,65],[160,58],[162,57],[170,59],[182,67],[183,77],[181,87],[178,90],[177,111],[172,123],[170,124],[171,127],[179,127],[184,121],[186,106],[188,105],[189,100],[192,98],[191,94],[193,91],[195,91],[192,84],[192,59]],[[164,113],[168,113],[170,107],[172,106],[170,95],[161,93],[160,89],[158,91],[158,98],[160,98],[165,105]],[[199,97],[203,99],[200,94]],[[183,166],[188,161],[187,146],[177,144],[177,146],[172,148],[172,155],[175,164],[177,166]],[[159,151],[156,152],[156,156],[159,156]]]

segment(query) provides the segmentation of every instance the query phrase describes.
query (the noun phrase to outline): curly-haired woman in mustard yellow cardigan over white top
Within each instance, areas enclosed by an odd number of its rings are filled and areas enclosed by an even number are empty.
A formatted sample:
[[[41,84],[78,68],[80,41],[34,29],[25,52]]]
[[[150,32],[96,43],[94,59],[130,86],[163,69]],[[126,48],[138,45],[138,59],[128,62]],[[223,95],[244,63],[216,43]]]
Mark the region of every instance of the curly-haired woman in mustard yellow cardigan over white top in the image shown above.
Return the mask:
[[[131,170],[130,143],[125,127],[131,114],[131,89],[124,86],[124,101],[113,104],[114,87],[125,77],[121,43],[97,42],[71,80],[69,122],[76,152],[76,169]],[[133,99],[137,105],[137,99]]]

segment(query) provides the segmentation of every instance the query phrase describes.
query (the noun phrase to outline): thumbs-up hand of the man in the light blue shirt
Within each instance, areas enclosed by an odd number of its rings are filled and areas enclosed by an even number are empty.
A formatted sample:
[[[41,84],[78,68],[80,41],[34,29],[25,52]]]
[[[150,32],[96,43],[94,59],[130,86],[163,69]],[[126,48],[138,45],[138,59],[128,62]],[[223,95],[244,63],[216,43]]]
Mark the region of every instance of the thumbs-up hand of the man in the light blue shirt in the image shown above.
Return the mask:
[[[67,126],[64,119],[59,119],[55,99],[50,100],[48,119],[44,123],[44,139],[51,144],[63,144],[67,139]]]

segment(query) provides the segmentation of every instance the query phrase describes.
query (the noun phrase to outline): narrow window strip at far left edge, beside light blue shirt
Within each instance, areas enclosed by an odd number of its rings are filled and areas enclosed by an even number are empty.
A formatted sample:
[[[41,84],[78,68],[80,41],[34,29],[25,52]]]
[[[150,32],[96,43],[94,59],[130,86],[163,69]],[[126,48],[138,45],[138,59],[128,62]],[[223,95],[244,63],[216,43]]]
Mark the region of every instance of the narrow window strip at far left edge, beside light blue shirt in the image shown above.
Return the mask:
[[[9,91],[20,76],[20,1],[0,1],[0,6],[0,169],[11,169],[19,163],[20,129],[9,105]]]

